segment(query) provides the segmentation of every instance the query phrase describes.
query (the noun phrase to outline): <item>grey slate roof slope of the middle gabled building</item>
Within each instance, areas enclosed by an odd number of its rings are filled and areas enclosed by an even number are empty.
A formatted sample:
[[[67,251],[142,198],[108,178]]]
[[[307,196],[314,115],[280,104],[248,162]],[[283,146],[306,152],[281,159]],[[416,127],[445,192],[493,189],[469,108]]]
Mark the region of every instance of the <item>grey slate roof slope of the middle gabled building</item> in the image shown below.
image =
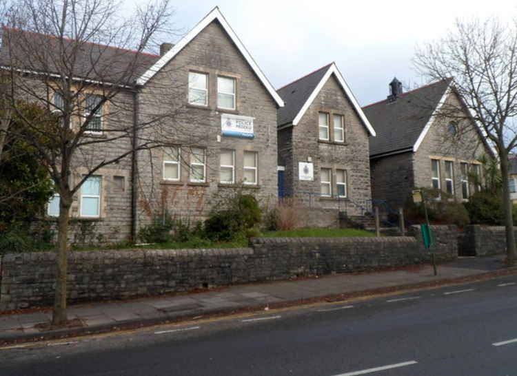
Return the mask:
[[[285,106],[278,109],[278,126],[292,123],[298,112],[310,97],[318,83],[323,79],[332,63],[301,77],[292,83],[276,90],[282,97]]]

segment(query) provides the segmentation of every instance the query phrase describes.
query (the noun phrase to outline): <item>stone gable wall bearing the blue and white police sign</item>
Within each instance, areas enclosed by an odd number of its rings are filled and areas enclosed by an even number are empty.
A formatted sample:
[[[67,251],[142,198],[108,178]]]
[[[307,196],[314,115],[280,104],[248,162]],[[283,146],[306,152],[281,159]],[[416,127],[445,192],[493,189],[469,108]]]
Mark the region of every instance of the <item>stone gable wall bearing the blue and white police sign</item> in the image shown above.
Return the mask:
[[[188,74],[208,74],[208,105],[189,105]],[[218,76],[236,80],[236,109],[217,107]],[[243,154],[258,154],[258,184],[246,187],[262,205],[276,203],[277,141],[276,103],[221,25],[214,21],[177,54],[143,87],[139,95],[141,118],[145,123],[157,114],[167,115],[161,121],[163,138],[181,147],[181,179],[163,180],[163,151],[139,154],[139,227],[148,223],[152,213],[168,209],[183,219],[203,220],[214,203],[214,195],[239,189],[243,182]],[[171,108],[174,112],[171,114]],[[221,114],[254,117],[254,138],[221,135]],[[156,132],[149,129],[148,132]],[[190,148],[206,150],[206,182],[190,182]],[[221,149],[235,153],[233,187],[219,183]]]

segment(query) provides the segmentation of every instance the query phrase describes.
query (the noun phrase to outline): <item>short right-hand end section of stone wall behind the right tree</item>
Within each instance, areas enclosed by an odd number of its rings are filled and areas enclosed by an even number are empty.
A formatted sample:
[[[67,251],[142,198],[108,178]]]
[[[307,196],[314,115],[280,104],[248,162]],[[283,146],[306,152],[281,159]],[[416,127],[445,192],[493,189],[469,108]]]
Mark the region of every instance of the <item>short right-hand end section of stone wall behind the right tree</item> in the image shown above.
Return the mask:
[[[514,227],[517,236],[517,227]],[[465,226],[460,242],[463,255],[487,256],[506,253],[506,233],[504,226],[483,226],[471,224]]]

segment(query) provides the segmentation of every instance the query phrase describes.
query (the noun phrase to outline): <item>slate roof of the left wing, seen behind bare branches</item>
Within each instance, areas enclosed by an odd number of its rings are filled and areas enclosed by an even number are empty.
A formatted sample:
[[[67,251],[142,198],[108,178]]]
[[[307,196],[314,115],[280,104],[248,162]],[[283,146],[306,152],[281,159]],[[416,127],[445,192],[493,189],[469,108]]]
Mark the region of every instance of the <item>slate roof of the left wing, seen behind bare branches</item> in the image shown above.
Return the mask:
[[[9,47],[8,47],[9,46]],[[153,65],[160,56],[96,43],[80,43],[48,34],[3,28],[0,65],[13,66],[30,72],[59,74],[71,72],[79,79],[129,84]],[[77,54],[73,48],[79,48]],[[76,57],[67,61],[71,67],[63,70],[62,57]]]

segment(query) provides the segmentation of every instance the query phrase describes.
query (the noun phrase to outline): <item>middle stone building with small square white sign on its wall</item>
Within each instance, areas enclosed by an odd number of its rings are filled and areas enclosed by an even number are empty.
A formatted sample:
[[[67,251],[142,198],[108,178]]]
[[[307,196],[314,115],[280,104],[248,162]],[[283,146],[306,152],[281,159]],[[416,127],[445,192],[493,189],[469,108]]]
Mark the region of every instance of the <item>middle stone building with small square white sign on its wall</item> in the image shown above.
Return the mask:
[[[362,216],[370,207],[368,139],[375,136],[335,63],[278,90],[280,196]]]

